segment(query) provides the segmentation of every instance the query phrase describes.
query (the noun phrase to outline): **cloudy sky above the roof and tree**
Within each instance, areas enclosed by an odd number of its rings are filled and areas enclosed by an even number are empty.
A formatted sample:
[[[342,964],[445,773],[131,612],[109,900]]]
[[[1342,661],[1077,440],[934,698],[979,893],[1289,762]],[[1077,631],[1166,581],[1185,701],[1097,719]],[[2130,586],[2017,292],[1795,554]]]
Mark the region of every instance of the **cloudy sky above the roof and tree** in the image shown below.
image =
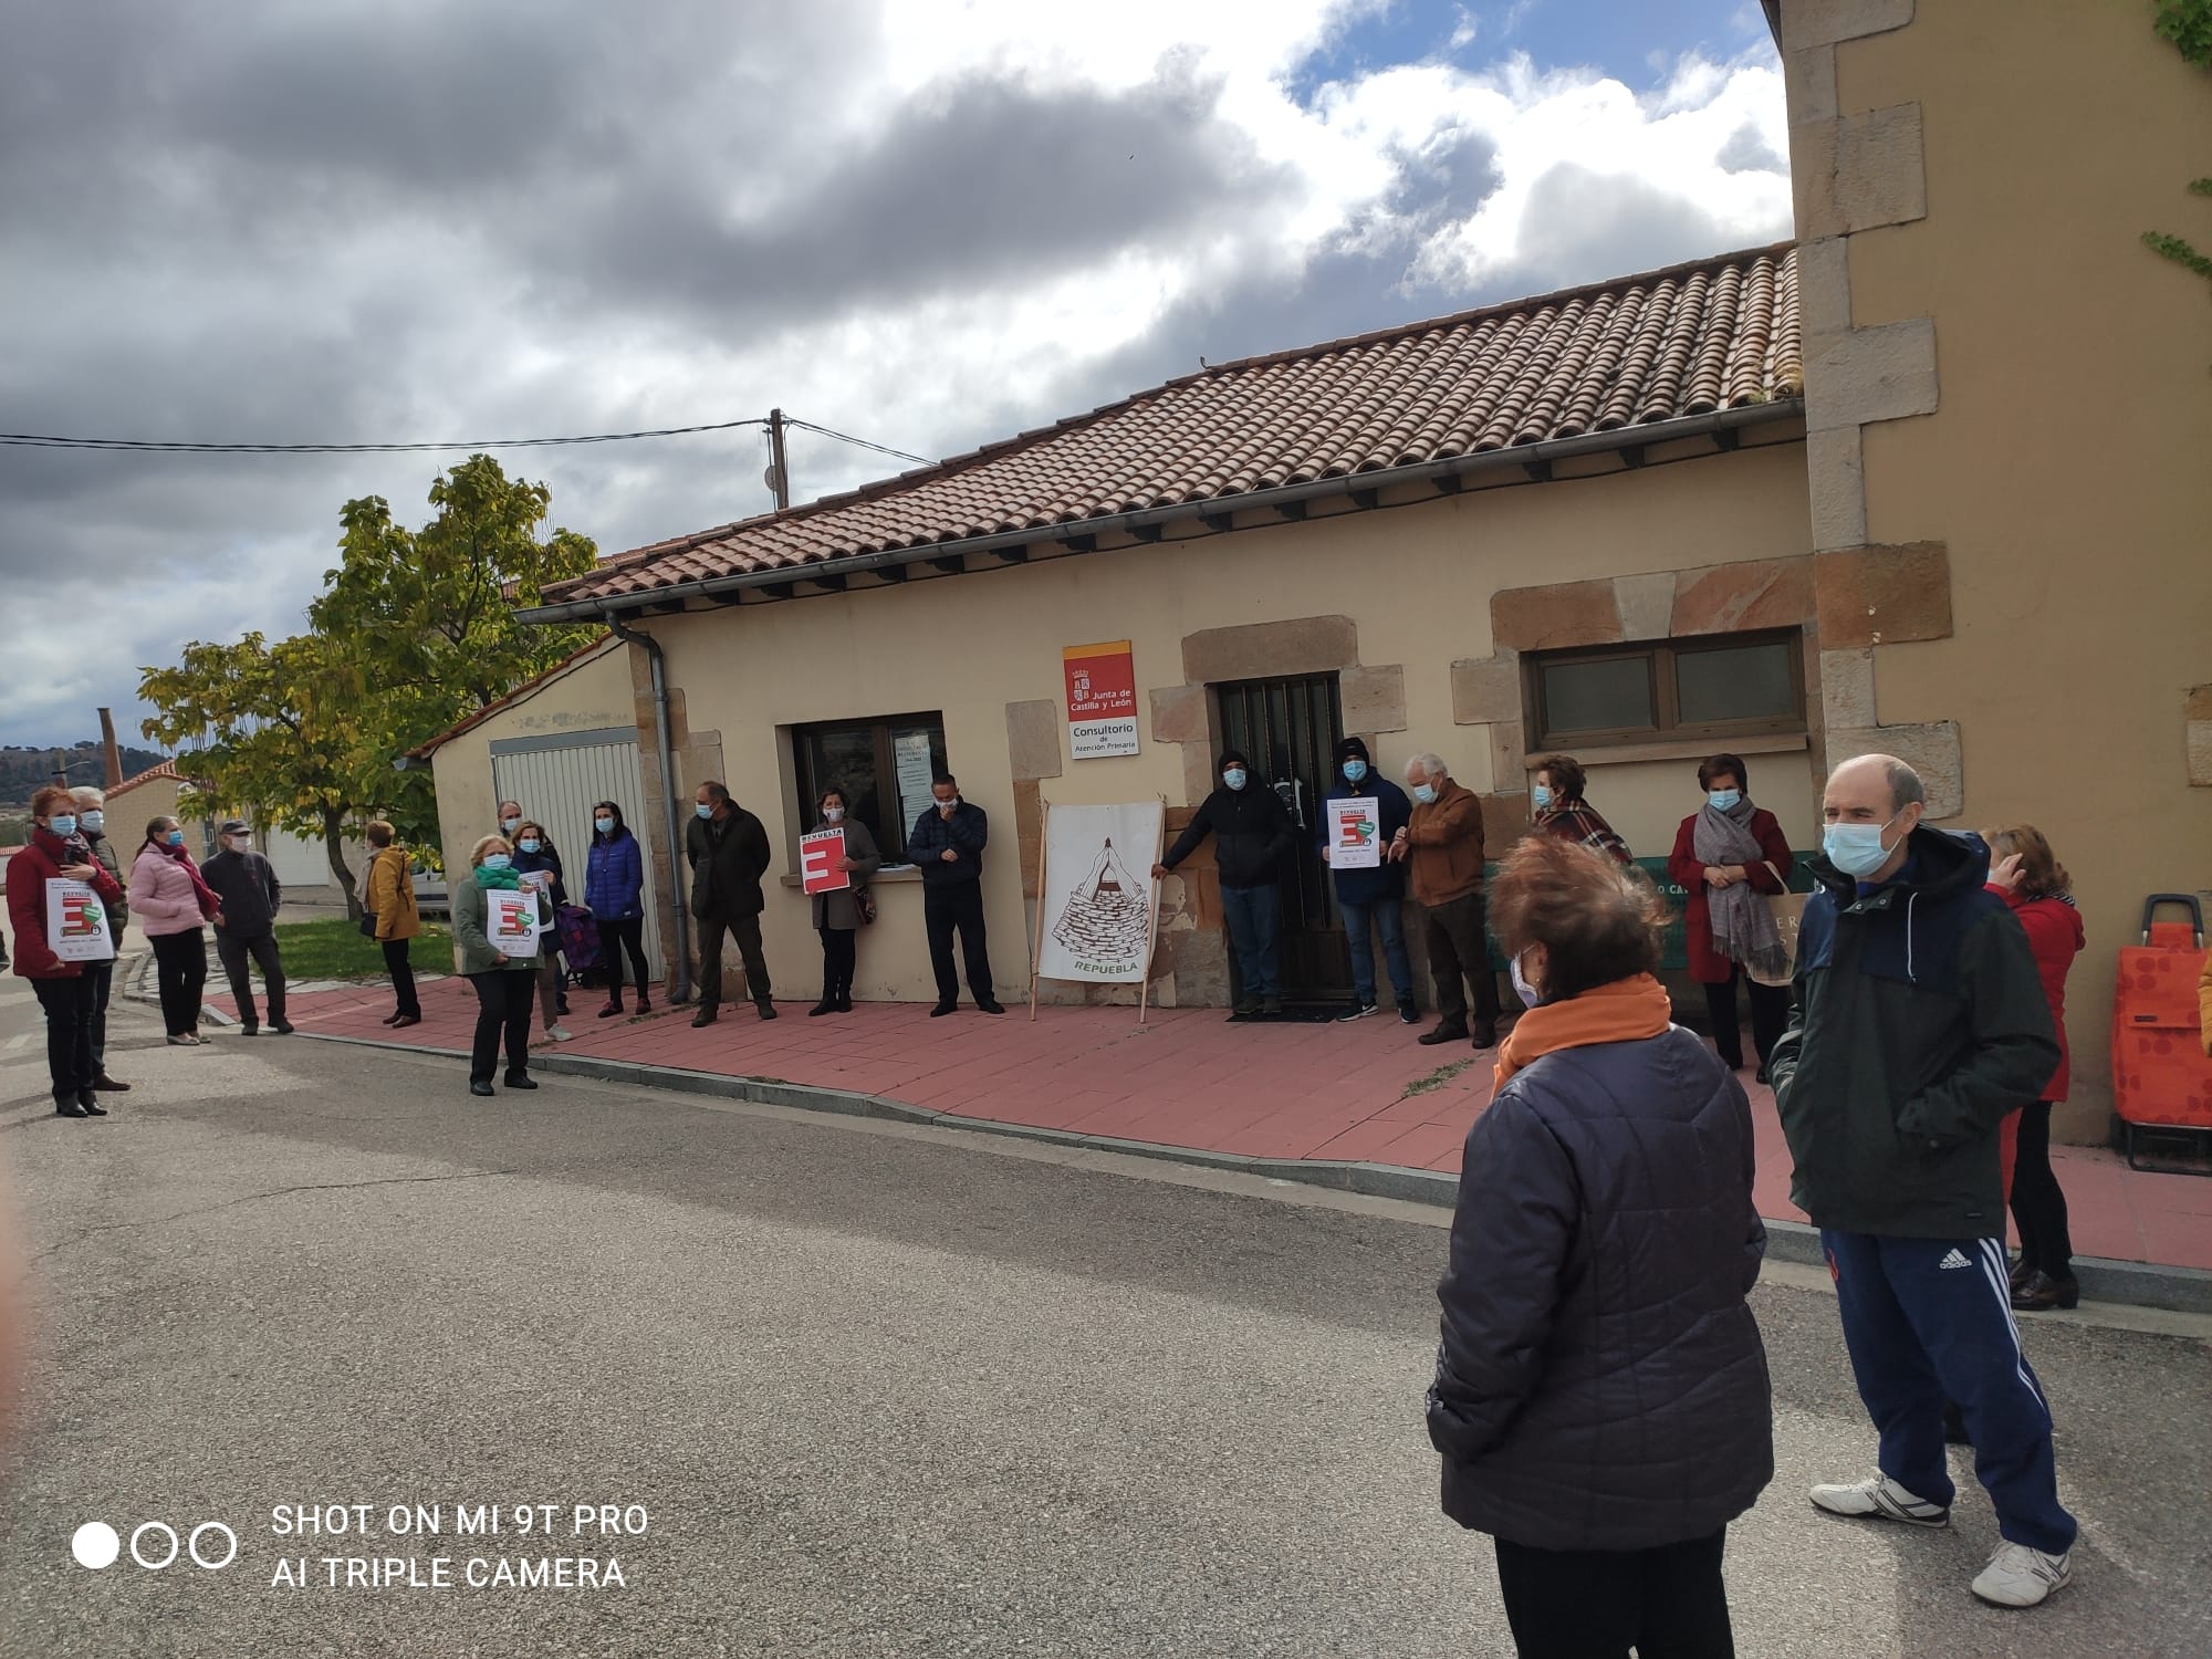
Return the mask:
[[[71,0],[0,53],[0,431],[770,405],[947,456],[1199,365],[1790,234],[1756,0]],[[0,447],[0,743],[270,635],[434,456]],[[757,431],[504,451],[602,553]],[[807,500],[896,471],[792,440]]]

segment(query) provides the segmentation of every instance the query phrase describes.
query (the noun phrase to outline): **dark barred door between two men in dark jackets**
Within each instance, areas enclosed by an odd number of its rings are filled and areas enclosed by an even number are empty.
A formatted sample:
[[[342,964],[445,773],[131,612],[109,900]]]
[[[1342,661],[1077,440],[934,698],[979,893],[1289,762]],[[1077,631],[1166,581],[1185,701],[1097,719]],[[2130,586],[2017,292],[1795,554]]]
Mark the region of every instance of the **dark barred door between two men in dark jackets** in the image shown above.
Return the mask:
[[[1214,692],[1223,745],[1250,754],[1254,781],[1283,796],[1298,821],[1298,858],[1283,874],[1283,998],[1340,1002],[1352,995],[1352,958],[1329,872],[1314,856],[1329,752],[1343,730],[1336,675],[1239,679]]]

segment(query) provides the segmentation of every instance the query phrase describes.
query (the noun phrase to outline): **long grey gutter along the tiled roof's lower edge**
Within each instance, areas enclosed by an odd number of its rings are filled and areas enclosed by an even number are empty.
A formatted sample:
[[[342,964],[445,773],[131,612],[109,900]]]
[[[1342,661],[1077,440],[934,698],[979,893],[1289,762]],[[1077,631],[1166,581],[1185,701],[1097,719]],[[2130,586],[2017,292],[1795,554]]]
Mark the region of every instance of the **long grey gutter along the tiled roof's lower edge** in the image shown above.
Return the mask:
[[[1064,524],[1033,524],[1029,529],[998,531],[993,535],[967,535],[956,542],[927,542],[922,546],[891,546],[878,553],[847,553],[814,564],[779,564],[770,571],[741,571],[737,575],[710,575],[697,582],[677,582],[666,588],[644,588],[639,593],[611,595],[599,599],[568,599],[518,611],[515,622],[586,622],[604,619],[615,628],[615,613],[644,611],[648,606],[677,604],[684,599],[712,599],[743,588],[787,586],[812,582],[825,575],[865,575],[898,564],[922,564],[927,560],[949,560],[962,553],[993,553],[1011,546],[1035,546],[1040,542],[1066,542],[1073,535],[1135,533],[1190,518],[1217,518],[1263,507],[1292,507],[1298,502],[1349,495],[1354,491],[1378,491],[1398,484],[1422,484],[1442,478],[1471,478],[1475,473],[1506,471],[1579,456],[1601,456],[1617,449],[1648,449],[1650,445],[1674,442],[1679,438],[1712,438],[1736,434],[1745,427],[1765,427],[1776,420],[1798,420],[1805,414],[1803,398],[1776,398],[1774,403],[1750,403],[1741,409],[1714,409],[1701,416],[1677,420],[1652,420],[1644,427],[1615,427],[1610,431],[1586,431],[1575,438],[1548,438],[1509,449],[1484,449],[1473,456],[1451,456],[1449,460],[1425,460],[1413,467],[1387,467],[1371,473],[1338,473],[1334,478],[1312,478],[1303,484],[1279,484],[1254,489],[1241,495],[1208,495],[1197,502],[1170,502],[1164,507],[1141,507],[1133,513],[1108,518],[1082,518]],[[622,628],[615,628],[622,633]],[[633,635],[622,635],[630,639]]]

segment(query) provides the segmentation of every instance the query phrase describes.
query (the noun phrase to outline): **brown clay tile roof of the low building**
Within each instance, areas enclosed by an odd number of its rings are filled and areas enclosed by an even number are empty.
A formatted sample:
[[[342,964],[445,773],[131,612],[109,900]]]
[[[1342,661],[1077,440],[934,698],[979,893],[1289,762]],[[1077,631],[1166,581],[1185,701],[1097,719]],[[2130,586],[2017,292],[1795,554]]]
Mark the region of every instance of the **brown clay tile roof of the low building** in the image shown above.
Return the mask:
[[[1790,246],[1221,363],[818,502],[633,549],[544,604],[1141,509],[1228,511],[1283,484],[1621,431],[1803,396]],[[1349,487],[1349,482],[1347,482]]]

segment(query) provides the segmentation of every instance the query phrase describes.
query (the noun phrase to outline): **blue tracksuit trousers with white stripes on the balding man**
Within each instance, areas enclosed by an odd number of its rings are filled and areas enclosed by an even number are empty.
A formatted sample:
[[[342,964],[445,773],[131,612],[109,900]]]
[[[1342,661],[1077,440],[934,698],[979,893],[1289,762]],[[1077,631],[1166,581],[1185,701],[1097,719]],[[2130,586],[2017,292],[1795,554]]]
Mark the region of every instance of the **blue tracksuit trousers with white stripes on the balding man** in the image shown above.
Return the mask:
[[[1882,1473],[1913,1498],[1949,1504],[1958,1493],[1942,1407],[1944,1398],[1958,1400],[1997,1531],[2046,1555],[2073,1548],[2075,1517],[2059,1509],[2051,1453],[2051,1407],[2020,1347],[2004,1245],[1823,1228],[1820,1248],[1836,1276],[1858,1398],[1882,1440]]]

